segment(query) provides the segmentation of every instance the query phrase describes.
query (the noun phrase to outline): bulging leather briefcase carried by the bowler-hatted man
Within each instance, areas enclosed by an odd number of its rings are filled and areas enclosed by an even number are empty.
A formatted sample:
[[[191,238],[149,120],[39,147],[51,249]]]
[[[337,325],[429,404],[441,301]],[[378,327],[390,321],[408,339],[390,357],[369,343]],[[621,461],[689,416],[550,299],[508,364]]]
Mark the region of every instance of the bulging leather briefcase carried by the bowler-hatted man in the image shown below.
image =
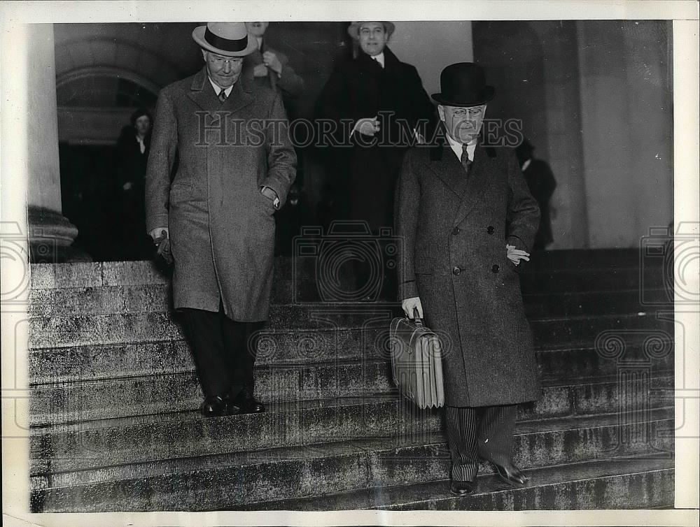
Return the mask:
[[[443,406],[440,339],[423,326],[417,313],[414,321],[400,317],[391,321],[389,347],[393,382],[402,396],[423,409]]]

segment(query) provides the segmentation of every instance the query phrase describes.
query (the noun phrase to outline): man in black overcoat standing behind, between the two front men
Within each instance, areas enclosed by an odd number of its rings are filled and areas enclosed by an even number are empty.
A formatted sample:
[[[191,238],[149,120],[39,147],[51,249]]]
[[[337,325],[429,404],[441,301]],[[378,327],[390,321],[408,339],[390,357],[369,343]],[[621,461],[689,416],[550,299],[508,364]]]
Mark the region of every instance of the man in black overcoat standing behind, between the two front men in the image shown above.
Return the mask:
[[[425,133],[421,121],[435,120],[416,68],[386,45],[393,31],[391,22],[350,24],[358,56],[330,75],[318,100],[319,119],[335,124],[340,143],[330,151],[334,216],[363,220],[373,233],[393,224],[393,189],[414,129]]]

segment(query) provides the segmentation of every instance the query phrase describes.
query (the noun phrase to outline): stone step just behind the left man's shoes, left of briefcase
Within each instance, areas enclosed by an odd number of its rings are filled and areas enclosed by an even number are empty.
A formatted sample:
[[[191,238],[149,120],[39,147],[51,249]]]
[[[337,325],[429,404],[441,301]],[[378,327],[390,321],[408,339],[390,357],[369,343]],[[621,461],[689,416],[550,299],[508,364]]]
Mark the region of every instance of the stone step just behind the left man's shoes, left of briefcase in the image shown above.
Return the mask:
[[[393,393],[386,361],[349,361],[255,370],[255,394],[265,403]],[[196,410],[202,390],[194,370],[43,385],[31,390],[32,425]]]

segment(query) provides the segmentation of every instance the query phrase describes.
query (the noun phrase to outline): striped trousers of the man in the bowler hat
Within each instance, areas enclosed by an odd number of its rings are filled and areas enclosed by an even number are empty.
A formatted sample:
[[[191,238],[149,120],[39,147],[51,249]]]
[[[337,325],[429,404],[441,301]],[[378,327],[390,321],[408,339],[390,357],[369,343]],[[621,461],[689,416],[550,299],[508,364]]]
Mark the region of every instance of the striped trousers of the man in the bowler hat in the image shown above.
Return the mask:
[[[479,457],[498,465],[510,463],[517,414],[518,405],[445,407],[447,446],[452,458],[450,476],[454,481],[474,481]]]

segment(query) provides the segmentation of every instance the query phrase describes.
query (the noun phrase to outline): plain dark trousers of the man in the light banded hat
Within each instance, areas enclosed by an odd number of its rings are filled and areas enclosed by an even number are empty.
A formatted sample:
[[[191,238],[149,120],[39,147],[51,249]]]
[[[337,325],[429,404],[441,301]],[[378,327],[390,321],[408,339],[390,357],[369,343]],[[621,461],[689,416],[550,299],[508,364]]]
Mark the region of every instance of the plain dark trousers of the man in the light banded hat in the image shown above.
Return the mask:
[[[258,333],[265,322],[235,322],[218,312],[181,310],[204,396],[235,397],[253,386]]]

